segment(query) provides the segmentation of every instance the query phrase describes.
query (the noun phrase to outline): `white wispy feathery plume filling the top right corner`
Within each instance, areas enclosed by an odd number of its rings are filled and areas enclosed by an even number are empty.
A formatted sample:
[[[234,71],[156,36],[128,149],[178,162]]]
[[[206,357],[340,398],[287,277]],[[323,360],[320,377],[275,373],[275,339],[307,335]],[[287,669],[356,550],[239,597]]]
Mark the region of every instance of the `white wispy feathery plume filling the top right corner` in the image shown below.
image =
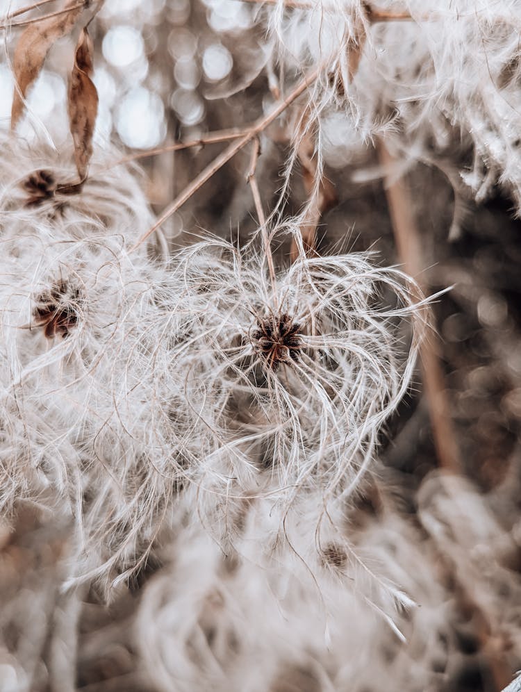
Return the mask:
[[[374,21],[379,10],[405,19]],[[482,201],[500,183],[519,208],[518,3],[316,0],[293,6],[280,0],[259,21],[273,38],[284,79],[300,76],[303,66],[318,70],[300,131],[315,135],[320,173],[324,124],[340,108],[356,133],[349,135],[345,162],[384,131],[388,147],[411,163],[432,158],[433,148],[454,153],[458,142],[474,157],[458,162],[468,192]],[[297,131],[297,145],[300,136]]]

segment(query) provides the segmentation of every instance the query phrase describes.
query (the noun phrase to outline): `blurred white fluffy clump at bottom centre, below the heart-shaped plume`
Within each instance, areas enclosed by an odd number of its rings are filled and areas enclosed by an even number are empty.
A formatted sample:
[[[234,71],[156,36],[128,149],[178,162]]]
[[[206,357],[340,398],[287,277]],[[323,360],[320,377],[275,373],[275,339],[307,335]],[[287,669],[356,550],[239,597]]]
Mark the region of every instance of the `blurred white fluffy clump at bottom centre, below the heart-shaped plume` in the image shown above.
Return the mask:
[[[385,591],[377,593],[367,579],[349,586],[356,564],[338,543],[320,561],[299,553],[315,523],[308,512],[319,502],[297,502],[281,532],[273,503],[250,500],[225,552],[197,522],[181,529],[171,561],[145,587],[135,620],[138,652],[156,689],[261,692],[278,689],[286,676],[301,679],[301,686],[293,682],[297,689],[308,689],[307,681],[324,692],[384,683],[398,691],[411,680],[427,689],[439,682],[445,593],[431,578],[417,534],[389,514],[356,536],[356,550],[377,546],[383,578],[399,575],[421,605],[404,611],[391,607]],[[411,559],[413,572],[402,565]],[[407,633],[406,643],[383,625],[381,614],[389,611]]]

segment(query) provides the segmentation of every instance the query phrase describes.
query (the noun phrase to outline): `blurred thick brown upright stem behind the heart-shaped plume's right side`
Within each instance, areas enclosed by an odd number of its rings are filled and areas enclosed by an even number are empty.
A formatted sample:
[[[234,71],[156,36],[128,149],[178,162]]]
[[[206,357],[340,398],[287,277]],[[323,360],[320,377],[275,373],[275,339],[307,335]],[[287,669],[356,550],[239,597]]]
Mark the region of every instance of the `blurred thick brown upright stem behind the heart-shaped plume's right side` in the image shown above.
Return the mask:
[[[377,143],[377,151],[384,169],[390,170],[394,159],[381,140]],[[386,197],[399,257],[407,274],[410,274],[421,286],[421,274],[424,270],[421,241],[413,217],[413,203],[405,183],[388,181]],[[445,381],[438,350],[434,334],[428,340],[424,340],[420,347],[424,387],[438,463],[441,468],[458,472],[461,470],[461,462],[449,416],[449,402],[445,394]]]

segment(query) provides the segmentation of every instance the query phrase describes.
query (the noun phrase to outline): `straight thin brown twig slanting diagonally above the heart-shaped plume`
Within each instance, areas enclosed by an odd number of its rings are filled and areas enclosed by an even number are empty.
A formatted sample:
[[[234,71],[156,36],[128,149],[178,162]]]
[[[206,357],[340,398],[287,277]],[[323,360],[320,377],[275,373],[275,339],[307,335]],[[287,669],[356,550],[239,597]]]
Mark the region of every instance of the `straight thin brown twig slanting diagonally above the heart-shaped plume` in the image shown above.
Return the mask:
[[[144,242],[144,240],[147,240],[147,238],[151,235],[151,233],[154,233],[156,229],[159,228],[162,224],[165,223],[165,221],[172,216],[183,204],[185,204],[185,201],[190,199],[192,195],[194,195],[201,186],[208,181],[213,174],[215,174],[218,170],[220,170],[225,163],[227,163],[235,154],[237,154],[242,147],[245,147],[251,140],[254,140],[254,138],[258,137],[258,135],[263,132],[268,125],[270,125],[281,113],[283,113],[290,104],[292,104],[295,99],[297,99],[307,88],[309,85],[313,84],[315,79],[317,79],[317,76],[320,74],[320,71],[322,69],[322,66],[317,67],[313,69],[313,72],[310,74],[306,75],[304,79],[297,84],[295,89],[292,90],[292,92],[286,97],[286,99],[283,99],[273,110],[271,113],[268,113],[267,115],[263,116],[256,124],[251,126],[251,128],[247,131],[245,135],[243,135],[241,138],[239,138],[237,141],[232,142],[224,151],[219,154],[219,156],[216,156],[216,158],[209,163],[200,173],[198,176],[195,177],[195,179],[185,187],[184,190],[174,199],[172,204],[170,204],[169,207],[165,209],[163,214],[158,218],[154,226],[151,226],[151,228],[146,232],[143,233],[141,238],[137,242],[135,242],[135,245],[131,247],[130,252],[133,252],[139,245]]]

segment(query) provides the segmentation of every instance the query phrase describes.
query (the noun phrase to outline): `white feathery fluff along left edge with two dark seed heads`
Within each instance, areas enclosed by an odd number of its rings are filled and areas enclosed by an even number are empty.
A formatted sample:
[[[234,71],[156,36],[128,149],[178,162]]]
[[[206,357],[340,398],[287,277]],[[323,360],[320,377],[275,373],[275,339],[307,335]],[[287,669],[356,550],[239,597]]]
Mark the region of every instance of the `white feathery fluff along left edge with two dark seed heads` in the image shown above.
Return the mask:
[[[176,439],[187,435],[182,416],[169,418],[183,409],[174,388],[169,407],[150,397],[154,344],[133,338],[164,277],[146,246],[127,253],[149,207],[122,167],[62,199],[66,157],[4,144],[0,516],[14,522],[30,503],[68,518],[71,576],[113,579],[146,558],[179,487]]]

